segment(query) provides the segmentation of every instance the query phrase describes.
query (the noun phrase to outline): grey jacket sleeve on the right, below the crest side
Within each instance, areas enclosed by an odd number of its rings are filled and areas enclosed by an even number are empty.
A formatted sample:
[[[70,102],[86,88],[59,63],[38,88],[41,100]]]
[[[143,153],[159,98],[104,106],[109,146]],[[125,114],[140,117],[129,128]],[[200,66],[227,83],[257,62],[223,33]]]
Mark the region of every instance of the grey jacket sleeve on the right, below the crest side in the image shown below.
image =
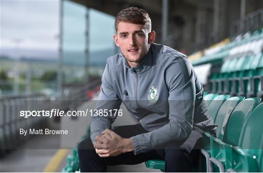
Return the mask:
[[[149,133],[131,137],[135,155],[160,149],[170,141],[186,139],[191,133],[195,104],[192,65],[187,57],[176,57],[172,62],[164,62],[164,68],[169,89],[169,123]]]

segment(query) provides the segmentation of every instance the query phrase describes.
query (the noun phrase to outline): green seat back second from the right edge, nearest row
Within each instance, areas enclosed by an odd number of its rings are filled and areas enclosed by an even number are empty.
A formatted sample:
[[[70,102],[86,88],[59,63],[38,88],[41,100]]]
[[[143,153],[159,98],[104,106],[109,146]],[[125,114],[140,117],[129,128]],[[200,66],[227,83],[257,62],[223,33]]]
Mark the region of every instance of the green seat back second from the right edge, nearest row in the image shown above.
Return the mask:
[[[249,98],[240,102],[233,110],[225,128],[223,141],[234,146],[238,145],[245,118],[249,116],[260,103],[260,98]]]

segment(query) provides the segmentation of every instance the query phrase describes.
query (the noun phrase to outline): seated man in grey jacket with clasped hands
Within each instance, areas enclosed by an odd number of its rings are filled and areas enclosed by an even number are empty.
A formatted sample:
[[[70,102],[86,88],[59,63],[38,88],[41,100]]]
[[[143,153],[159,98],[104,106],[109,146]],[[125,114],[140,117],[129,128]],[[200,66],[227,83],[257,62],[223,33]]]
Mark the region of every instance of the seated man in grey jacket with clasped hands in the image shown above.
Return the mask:
[[[190,61],[153,43],[155,32],[143,9],[122,10],[115,29],[121,53],[107,60],[96,106],[108,112],[93,116],[91,138],[78,145],[80,171],[106,172],[107,165],[164,159],[166,172],[190,172],[193,148],[200,147],[202,139],[200,129],[216,129]],[[139,123],[110,130],[116,116],[109,110],[119,109],[121,103]]]

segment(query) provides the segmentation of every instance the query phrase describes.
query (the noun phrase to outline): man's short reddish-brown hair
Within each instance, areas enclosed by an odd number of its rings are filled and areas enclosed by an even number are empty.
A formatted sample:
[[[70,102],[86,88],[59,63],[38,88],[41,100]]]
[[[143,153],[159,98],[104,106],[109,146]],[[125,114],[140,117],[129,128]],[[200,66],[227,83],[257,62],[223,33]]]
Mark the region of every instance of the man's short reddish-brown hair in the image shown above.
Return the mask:
[[[144,25],[148,31],[151,31],[151,20],[148,13],[141,8],[129,7],[121,10],[115,18],[115,30],[117,32],[120,21],[127,23]]]

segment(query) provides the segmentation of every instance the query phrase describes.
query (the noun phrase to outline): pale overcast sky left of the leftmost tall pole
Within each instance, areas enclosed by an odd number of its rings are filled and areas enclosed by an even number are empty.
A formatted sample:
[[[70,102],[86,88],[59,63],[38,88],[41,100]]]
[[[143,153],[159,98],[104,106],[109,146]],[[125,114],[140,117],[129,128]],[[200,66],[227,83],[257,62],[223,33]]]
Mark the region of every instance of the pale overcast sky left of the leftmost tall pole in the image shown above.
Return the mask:
[[[1,0],[1,47],[57,50],[58,0]]]

